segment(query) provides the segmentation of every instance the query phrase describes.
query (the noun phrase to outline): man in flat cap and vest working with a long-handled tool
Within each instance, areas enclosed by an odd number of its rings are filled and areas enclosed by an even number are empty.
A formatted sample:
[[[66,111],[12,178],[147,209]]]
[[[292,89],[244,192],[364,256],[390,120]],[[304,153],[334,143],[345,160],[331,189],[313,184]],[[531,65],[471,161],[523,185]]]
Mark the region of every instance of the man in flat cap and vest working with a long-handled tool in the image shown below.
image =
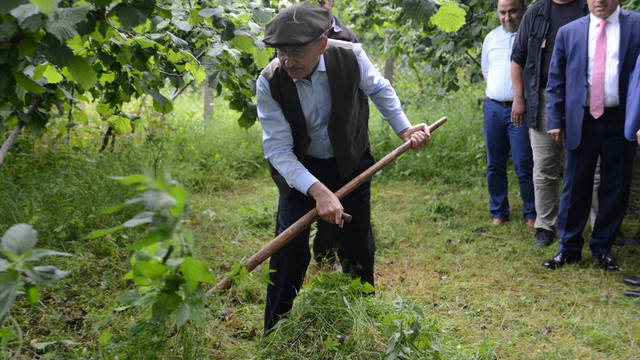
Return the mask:
[[[330,22],[327,10],[305,1],[266,25],[264,43],[276,48],[277,59],[258,77],[258,118],[280,191],[278,233],[315,208],[333,224],[344,271],[373,285],[371,182],[342,200],[334,194],[374,164],[363,94],[413,149],[426,146],[430,134],[426,124],[411,126],[359,44],[327,39]],[[353,217],[348,223],[345,212]],[[291,309],[310,260],[308,229],[271,257],[265,333]]]

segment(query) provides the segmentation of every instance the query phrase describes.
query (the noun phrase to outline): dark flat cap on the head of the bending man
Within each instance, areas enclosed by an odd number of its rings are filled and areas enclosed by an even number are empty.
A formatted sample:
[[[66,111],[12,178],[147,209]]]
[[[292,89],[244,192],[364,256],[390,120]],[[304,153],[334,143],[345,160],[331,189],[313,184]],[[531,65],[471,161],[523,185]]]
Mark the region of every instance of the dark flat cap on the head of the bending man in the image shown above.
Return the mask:
[[[269,47],[303,47],[317,40],[331,25],[329,11],[309,1],[280,11],[264,29],[264,43]]]

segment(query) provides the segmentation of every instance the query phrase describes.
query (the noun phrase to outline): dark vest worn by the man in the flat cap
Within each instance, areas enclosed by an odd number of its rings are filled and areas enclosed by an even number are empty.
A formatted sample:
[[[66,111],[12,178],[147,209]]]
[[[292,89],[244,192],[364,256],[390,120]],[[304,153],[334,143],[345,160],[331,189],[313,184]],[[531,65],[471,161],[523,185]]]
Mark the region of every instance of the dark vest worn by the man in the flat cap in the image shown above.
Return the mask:
[[[350,42],[329,39],[324,61],[331,88],[329,139],[340,176],[349,177],[369,143],[369,103],[358,88],[360,67]],[[261,74],[269,81],[271,96],[280,104],[291,126],[293,152],[303,161],[311,138],[307,134],[296,85],[278,59],[272,60]],[[288,197],[291,188],[271,164],[269,167],[280,195]]]

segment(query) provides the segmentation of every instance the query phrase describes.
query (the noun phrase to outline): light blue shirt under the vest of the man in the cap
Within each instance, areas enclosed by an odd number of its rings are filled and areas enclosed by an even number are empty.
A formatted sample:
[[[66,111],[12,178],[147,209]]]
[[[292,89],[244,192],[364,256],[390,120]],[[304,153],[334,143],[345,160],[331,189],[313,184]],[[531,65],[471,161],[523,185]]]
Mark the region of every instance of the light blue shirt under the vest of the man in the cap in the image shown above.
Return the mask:
[[[358,86],[369,96],[382,118],[391,125],[396,134],[411,126],[395,90],[373,66],[362,45],[353,44],[353,52],[360,67]],[[306,155],[320,159],[332,158],[334,154],[328,132],[331,90],[324,55],[320,56],[320,63],[311,75],[311,81],[294,79],[294,82],[305,117],[307,133],[311,138]],[[306,194],[309,187],[318,179],[298,161],[294,154],[291,127],[282,113],[280,104],[271,96],[269,82],[262,75],[258,77],[257,82],[257,102],[258,118],[263,129],[262,144],[265,157],[285,178],[289,186]]]

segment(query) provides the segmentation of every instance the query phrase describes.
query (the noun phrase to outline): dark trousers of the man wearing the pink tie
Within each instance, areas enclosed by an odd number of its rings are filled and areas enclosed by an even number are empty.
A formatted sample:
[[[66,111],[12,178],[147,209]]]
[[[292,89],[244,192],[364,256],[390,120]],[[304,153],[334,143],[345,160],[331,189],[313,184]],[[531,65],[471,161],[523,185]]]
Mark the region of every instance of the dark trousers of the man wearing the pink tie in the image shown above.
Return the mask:
[[[589,247],[594,256],[610,253],[626,212],[637,146],[625,140],[623,129],[624,119],[618,107],[607,108],[599,119],[585,110],[580,145],[565,153],[564,186],[558,213],[560,252],[578,256],[582,251],[582,232],[589,218],[593,176],[600,156],[598,215]]]

